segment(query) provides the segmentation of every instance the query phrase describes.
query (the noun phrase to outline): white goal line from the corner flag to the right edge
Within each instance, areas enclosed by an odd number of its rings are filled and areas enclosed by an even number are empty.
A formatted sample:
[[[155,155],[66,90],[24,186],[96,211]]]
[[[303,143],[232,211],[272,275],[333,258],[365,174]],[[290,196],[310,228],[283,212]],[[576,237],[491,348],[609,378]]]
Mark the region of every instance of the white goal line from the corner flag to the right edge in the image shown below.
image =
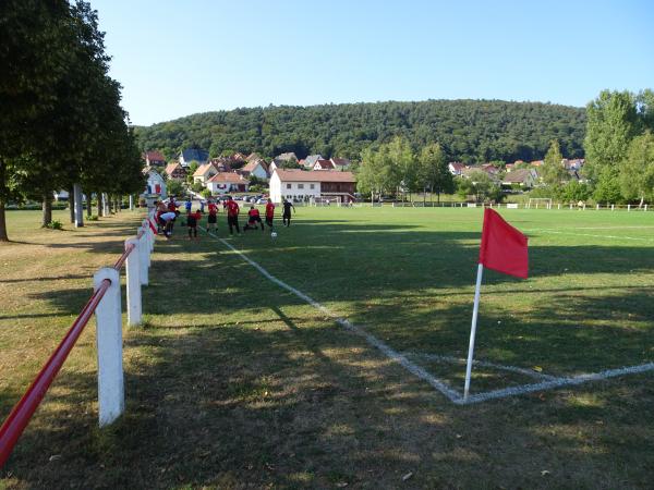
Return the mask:
[[[654,363],[641,364],[640,366],[621,367],[617,369],[607,369],[600,372],[591,372],[586,375],[578,375],[569,378],[559,378],[552,381],[543,381],[534,384],[522,384],[520,387],[504,388],[501,390],[488,391],[468,396],[468,400],[452,400],[457,405],[469,405],[471,403],[487,402],[495,399],[504,399],[507,396],[516,396],[534,391],[552,390],[554,388],[569,387],[586,383],[589,381],[602,381],[608,378],[615,378],[623,375],[638,375],[654,370]]]

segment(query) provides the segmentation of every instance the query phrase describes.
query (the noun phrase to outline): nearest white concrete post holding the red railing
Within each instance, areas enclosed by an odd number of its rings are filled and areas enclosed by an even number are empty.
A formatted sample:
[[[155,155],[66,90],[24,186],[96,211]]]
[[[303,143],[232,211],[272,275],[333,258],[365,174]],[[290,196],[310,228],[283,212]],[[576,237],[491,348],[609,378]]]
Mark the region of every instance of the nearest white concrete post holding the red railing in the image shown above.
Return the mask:
[[[120,275],[112,267],[104,267],[93,277],[94,289],[108,279],[111,285],[96,308],[98,351],[98,412],[100,427],[108,426],[125,409],[122,367],[122,315]]]

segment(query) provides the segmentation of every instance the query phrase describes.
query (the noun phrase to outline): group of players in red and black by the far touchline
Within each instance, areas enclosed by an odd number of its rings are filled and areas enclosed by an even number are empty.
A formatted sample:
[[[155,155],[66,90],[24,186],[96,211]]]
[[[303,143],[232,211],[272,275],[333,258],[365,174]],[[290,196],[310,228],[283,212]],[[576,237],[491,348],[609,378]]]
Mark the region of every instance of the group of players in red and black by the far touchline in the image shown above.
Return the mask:
[[[207,226],[206,226],[207,232],[214,232],[214,233],[216,232],[216,224],[218,222],[218,210],[219,210],[218,206],[219,206],[219,204],[220,204],[219,199],[218,200],[209,199],[207,201],[207,210],[208,210]],[[193,203],[192,203],[191,198],[186,199],[185,225],[189,230],[189,240],[197,240],[197,226],[198,226],[199,221],[202,220],[202,217],[204,213],[205,203],[201,200],[199,209],[196,209],[195,211],[193,211],[191,209],[192,206],[193,206]],[[172,236],[172,230],[174,226],[174,222],[175,222],[177,218],[180,216],[179,208],[180,208],[180,206],[174,200],[174,197],[171,197],[168,200],[168,204],[166,204],[164,201],[157,203],[157,210],[156,210],[157,223],[159,225],[159,230],[164,232],[164,235],[167,238],[170,238]],[[232,199],[231,196],[229,196],[225,200],[222,200],[222,208],[225,209],[225,212],[227,213],[227,224],[229,226],[230,235],[233,235],[234,229],[237,230],[237,233],[240,235],[241,229],[239,226],[239,215],[241,212],[241,208],[239,207],[239,204],[234,199]],[[284,199],[282,203],[282,222],[283,222],[284,226],[291,225],[291,210],[293,212],[295,212],[295,207],[293,206],[293,204],[291,201],[289,201],[288,199]],[[271,201],[268,201],[268,204],[266,204],[265,219],[266,219],[266,224],[268,225],[268,228],[270,228],[270,231],[274,232],[274,229],[275,229],[275,225],[274,225],[275,205]],[[254,206],[251,206],[250,210],[247,211],[247,222],[243,226],[243,232],[245,232],[247,230],[256,230],[257,225],[261,226],[262,232],[265,231],[264,222],[262,221],[259,210],[257,208],[255,208]],[[274,236],[276,236],[276,235],[274,235]]]

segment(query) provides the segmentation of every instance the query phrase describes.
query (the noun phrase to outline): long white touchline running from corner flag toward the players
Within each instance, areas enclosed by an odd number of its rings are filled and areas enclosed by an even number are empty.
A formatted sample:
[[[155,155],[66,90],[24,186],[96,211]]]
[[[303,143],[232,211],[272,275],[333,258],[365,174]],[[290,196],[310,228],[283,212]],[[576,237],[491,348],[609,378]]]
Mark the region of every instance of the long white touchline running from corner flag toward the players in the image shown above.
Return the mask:
[[[320,305],[318,302],[316,302],[312,297],[307,296],[306,294],[302,293],[301,291],[298,291],[293,286],[290,286],[286,282],[277,279],[275,275],[272,275],[270,272],[268,272],[266,269],[264,269],[257,262],[252,260],[250,257],[247,257],[241,250],[235,248],[229,242],[225,241],[223,238],[219,238],[218,236],[214,235],[213,233],[208,233],[208,234],[210,236],[213,236],[214,238],[218,240],[219,242],[221,242],[226,247],[228,247],[229,249],[231,249],[232,252],[238,254],[243,260],[245,260],[247,264],[250,264],[252,267],[254,267],[256,270],[258,270],[262,275],[264,275],[268,280],[272,281],[278,286],[293,293],[299,298],[304,299],[306,303],[308,303],[314,308],[320,310],[328,317],[336,320],[336,322],[339,323],[341,327],[362,336],[363,339],[365,339],[365,341],[370,345],[382,351],[388,358],[395,360],[396,363],[399,363],[404,369],[407,369],[412,375],[414,375],[414,376],[419,377],[420,379],[429,383],[433,388],[435,388],[440,393],[443,393],[445,396],[447,396],[451,402],[462,399],[461,394],[458,391],[452,390],[450,387],[445,384],[443,381],[436,379],[434,376],[432,376],[431,373],[425,371],[422,367],[411,363],[407,357],[404,357],[403,355],[393,351],[391,347],[389,347],[387,344],[382,342],[375,335],[372,335],[371,333],[362,330],[361,328],[356,327],[354,323],[350,322],[349,320],[347,320],[344,318],[340,318],[338,315],[334,314],[331,310],[329,310],[325,306]]]

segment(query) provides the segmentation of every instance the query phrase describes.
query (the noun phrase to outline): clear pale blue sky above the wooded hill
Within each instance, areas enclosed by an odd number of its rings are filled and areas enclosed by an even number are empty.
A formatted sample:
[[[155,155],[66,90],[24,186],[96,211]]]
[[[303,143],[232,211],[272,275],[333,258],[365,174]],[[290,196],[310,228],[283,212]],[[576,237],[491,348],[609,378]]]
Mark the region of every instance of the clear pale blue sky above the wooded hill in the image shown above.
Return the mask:
[[[133,124],[268,105],[654,88],[650,0],[89,0]]]

